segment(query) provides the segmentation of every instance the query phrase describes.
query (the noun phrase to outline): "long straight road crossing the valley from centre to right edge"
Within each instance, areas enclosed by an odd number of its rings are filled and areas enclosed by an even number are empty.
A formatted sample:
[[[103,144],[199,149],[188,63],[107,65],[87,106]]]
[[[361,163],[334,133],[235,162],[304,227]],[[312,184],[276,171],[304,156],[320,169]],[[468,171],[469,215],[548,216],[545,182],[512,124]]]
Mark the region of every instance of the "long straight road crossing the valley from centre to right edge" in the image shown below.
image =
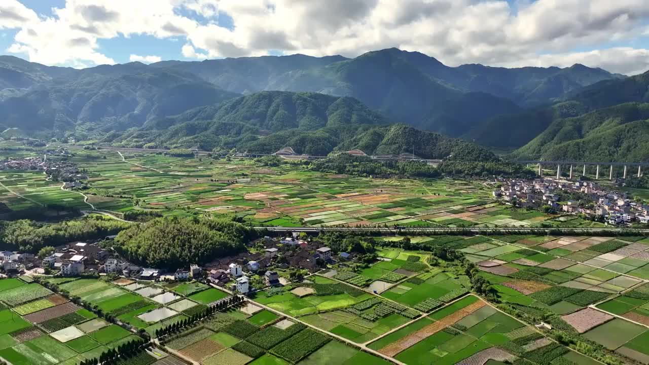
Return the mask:
[[[649,229],[625,229],[625,228],[452,228],[452,227],[254,227],[255,229],[267,229],[271,232],[381,232],[381,233],[467,233],[467,234],[489,234],[489,233],[517,233],[517,234],[591,234],[611,233],[618,234],[628,232],[638,235],[649,235]]]

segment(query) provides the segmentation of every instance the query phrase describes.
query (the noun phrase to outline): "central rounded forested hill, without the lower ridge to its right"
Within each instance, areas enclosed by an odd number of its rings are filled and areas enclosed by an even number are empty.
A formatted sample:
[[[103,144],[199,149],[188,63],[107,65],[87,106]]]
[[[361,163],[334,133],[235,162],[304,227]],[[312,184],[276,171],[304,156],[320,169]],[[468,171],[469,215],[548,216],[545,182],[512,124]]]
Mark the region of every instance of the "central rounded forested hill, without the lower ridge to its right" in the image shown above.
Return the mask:
[[[345,135],[387,123],[384,116],[350,97],[260,92],[153,120],[102,142],[207,150],[236,147],[251,153],[273,153],[291,145],[297,153],[326,155]]]

